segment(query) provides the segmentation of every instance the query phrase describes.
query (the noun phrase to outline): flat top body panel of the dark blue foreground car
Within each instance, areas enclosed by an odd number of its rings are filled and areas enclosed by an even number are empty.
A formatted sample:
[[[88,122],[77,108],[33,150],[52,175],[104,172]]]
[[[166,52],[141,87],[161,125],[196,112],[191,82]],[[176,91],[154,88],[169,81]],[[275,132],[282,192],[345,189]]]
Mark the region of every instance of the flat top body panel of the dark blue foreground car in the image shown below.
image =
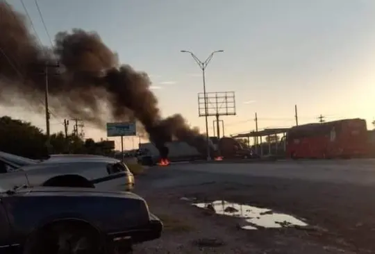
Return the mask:
[[[99,191],[94,188],[77,187],[31,187],[21,189],[15,195],[28,196],[106,196],[114,198],[143,199],[132,192]]]

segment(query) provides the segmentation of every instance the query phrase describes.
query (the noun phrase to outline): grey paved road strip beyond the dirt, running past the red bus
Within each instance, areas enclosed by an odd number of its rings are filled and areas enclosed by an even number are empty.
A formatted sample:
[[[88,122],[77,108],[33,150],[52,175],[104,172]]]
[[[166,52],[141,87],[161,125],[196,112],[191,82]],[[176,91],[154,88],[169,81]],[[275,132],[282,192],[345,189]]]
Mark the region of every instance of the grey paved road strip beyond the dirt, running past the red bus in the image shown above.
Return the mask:
[[[149,171],[158,171],[156,177],[160,177],[160,181],[156,185],[166,185],[166,187],[209,181],[247,183],[253,176],[323,183],[375,185],[375,160],[181,163],[171,164],[168,167],[151,167]],[[163,171],[168,177],[163,176]]]

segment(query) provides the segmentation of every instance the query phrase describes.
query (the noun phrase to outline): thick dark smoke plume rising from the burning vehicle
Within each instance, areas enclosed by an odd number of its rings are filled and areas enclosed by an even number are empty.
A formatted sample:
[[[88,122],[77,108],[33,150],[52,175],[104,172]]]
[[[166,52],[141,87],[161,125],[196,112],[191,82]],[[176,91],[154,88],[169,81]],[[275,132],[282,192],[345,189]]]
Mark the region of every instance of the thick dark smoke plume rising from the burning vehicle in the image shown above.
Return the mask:
[[[136,119],[157,146],[178,139],[204,153],[205,137],[191,129],[181,115],[162,119],[147,74],[120,65],[97,33],[81,29],[60,32],[54,49],[41,48],[29,33],[24,16],[4,2],[0,3],[0,32],[2,105],[23,100],[42,109],[46,65],[58,62],[60,67],[47,67],[53,111],[79,117],[98,128],[104,128],[107,121]]]

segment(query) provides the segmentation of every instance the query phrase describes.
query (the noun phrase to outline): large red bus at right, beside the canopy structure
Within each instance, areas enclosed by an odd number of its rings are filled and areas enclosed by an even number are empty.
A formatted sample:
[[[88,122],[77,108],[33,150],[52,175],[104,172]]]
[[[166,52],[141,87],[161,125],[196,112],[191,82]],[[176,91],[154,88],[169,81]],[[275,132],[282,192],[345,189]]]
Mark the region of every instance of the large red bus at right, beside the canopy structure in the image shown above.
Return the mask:
[[[364,119],[294,126],[286,140],[290,158],[360,158],[368,153]]]

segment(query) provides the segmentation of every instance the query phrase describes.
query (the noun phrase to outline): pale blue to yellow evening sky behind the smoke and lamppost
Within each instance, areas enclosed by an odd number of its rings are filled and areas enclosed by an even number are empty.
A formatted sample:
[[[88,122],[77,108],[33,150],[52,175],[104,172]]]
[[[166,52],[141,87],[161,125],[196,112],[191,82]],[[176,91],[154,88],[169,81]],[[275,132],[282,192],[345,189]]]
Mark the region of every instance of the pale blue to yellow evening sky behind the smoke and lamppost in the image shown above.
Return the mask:
[[[8,0],[25,13],[20,0]],[[35,6],[24,0],[43,44],[49,38]],[[360,117],[375,119],[374,0],[38,0],[51,37],[58,31],[97,31],[121,62],[146,71],[163,116],[181,113],[205,130],[198,116],[203,92],[235,92],[235,116],[224,116],[225,135],[258,128]],[[31,121],[45,129],[43,115],[26,108],[0,108],[0,115]],[[51,130],[63,130],[63,119]],[[213,117],[208,119],[213,135]],[[69,126],[72,130],[72,124]],[[106,139],[106,132],[85,126],[85,137]],[[117,138],[119,139],[119,138]],[[116,140],[119,146],[119,140]],[[135,146],[138,139],[134,141]],[[133,139],[125,139],[131,149]]]

